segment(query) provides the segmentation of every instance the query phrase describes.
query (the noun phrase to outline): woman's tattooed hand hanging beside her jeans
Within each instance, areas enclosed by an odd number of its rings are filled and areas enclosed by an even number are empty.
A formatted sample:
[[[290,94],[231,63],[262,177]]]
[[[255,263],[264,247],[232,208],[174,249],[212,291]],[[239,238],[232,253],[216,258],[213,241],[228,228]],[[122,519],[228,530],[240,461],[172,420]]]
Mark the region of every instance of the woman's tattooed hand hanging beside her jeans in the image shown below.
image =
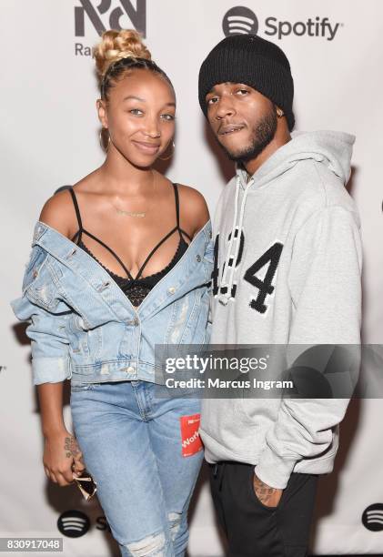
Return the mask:
[[[70,485],[86,468],[76,438],[67,430],[45,437],[43,463],[46,476],[61,486]]]

